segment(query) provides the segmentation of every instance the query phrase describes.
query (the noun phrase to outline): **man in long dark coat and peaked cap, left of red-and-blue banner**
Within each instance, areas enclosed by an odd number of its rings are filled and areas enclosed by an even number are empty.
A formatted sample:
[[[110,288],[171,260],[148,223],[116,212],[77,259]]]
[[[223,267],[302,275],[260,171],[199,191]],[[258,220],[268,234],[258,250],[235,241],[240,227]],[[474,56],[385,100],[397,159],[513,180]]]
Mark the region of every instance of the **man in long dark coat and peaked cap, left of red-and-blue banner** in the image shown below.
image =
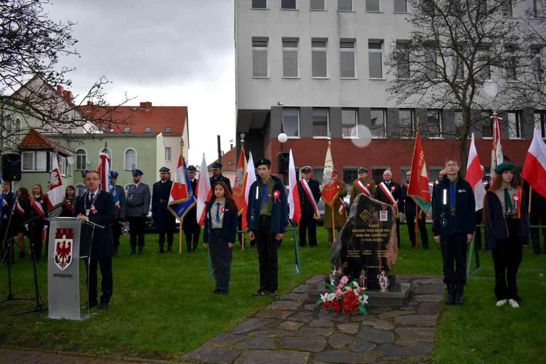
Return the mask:
[[[173,230],[175,217],[167,209],[173,181],[170,180],[170,169],[162,167],[159,170],[160,181],[153,184],[152,192],[152,219],[159,234],[159,253],[165,253],[165,233],[167,234],[167,251],[173,252]]]

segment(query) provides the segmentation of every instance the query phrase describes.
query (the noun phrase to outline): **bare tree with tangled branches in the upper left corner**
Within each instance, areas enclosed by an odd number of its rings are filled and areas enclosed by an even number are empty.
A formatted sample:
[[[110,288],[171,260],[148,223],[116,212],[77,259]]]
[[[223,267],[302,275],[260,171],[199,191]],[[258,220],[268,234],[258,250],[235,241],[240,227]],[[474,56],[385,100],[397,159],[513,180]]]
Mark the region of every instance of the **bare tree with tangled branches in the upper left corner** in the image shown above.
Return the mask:
[[[110,82],[105,76],[85,94],[64,90],[72,85],[69,74],[74,69],[62,65],[61,59],[79,56],[78,40],[71,35],[74,23],[52,21],[45,5],[50,3],[0,0],[0,152],[17,150],[31,128],[72,139],[100,132],[105,120],[127,123],[111,116],[115,107],[93,114],[98,117],[80,111],[91,101],[97,109],[104,108],[104,87]]]

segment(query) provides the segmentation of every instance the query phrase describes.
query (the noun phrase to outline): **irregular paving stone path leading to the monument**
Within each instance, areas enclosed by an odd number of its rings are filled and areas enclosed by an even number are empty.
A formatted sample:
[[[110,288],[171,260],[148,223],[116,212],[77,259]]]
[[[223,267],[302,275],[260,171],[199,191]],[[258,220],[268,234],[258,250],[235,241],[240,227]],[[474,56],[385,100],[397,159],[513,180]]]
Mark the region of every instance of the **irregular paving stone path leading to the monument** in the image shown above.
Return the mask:
[[[262,311],[201,345],[183,360],[204,363],[432,362],[444,285],[437,276],[396,276],[410,283],[401,307],[342,315],[314,303],[325,292],[314,276]],[[259,298],[257,298],[259,300]]]

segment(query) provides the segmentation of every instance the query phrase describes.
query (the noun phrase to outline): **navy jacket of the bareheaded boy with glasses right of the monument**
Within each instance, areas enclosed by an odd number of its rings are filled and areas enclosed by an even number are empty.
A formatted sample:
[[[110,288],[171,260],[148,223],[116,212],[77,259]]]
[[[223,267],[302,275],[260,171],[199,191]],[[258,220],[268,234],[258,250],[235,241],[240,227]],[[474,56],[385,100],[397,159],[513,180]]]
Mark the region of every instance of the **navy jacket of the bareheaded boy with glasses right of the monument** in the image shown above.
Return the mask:
[[[434,236],[474,234],[476,229],[476,200],[474,191],[459,173],[455,184],[455,218],[452,218],[449,207],[449,178],[446,176],[436,185],[432,199],[432,232]],[[443,203],[443,192],[446,191],[447,203]]]

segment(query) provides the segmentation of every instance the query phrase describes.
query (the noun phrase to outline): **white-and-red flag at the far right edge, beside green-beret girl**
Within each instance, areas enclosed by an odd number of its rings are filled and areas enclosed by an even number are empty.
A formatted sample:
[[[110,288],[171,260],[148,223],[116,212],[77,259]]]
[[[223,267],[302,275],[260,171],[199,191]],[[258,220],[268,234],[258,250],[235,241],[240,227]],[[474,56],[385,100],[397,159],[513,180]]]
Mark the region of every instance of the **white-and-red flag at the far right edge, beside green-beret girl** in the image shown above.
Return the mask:
[[[533,190],[546,198],[546,145],[538,129],[535,129],[527,151],[521,176],[529,182]]]

